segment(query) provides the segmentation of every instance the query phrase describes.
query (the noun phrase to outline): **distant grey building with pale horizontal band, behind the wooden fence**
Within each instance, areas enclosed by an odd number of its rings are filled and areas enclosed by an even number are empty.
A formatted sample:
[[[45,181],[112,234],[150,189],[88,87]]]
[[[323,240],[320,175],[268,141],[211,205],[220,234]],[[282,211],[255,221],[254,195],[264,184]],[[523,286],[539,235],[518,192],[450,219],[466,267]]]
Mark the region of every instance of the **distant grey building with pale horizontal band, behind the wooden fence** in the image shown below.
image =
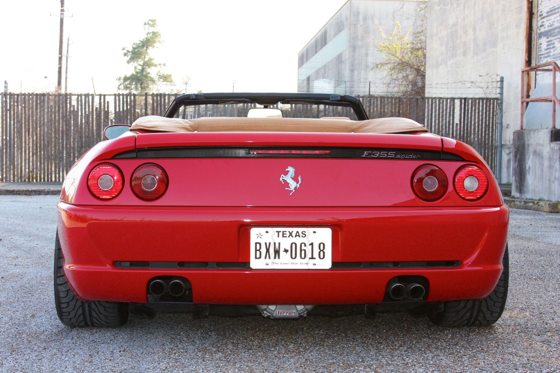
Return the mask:
[[[298,53],[298,92],[367,95],[390,93],[375,40],[379,28],[389,36],[399,21],[403,31],[414,23],[417,1],[348,0]],[[389,91],[389,92],[388,92]]]

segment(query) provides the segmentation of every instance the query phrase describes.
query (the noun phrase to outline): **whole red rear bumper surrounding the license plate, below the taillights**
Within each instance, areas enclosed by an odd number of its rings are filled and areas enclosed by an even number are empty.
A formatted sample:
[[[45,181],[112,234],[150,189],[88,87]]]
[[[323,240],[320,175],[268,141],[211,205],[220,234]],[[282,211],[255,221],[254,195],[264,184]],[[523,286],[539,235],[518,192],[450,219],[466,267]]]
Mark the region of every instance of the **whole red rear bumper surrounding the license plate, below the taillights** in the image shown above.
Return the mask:
[[[64,273],[83,300],[146,303],[150,278],[182,276],[194,303],[380,303],[395,276],[427,278],[426,301],[482,299],[500,277],[508,209],[74,206],[59,202]],[[329,225],[333,261],[461,261],[452,268],[119,268],[115,261],[248,262],[254,225]]]

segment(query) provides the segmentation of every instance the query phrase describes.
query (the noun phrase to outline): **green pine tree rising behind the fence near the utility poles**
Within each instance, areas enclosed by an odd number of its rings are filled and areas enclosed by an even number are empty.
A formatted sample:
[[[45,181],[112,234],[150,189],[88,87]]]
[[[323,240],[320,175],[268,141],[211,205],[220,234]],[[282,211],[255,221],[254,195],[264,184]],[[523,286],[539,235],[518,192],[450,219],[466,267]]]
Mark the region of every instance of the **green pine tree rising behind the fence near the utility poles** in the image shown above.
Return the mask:
[[[172,83],[171,74],[162,73],[159,70],[165,64],[156,63],[150,56],[150,50],[161,44],[161,34],[156,30],[156,20],[144,22],[146,37],[132,44],[132,48],[123,47],[127,64],[132,65],[134,72],[119,78],[119,89],[123,91],[144,93],[151,92],[158,83]],[[155,74],[153,69],[158,69]]]

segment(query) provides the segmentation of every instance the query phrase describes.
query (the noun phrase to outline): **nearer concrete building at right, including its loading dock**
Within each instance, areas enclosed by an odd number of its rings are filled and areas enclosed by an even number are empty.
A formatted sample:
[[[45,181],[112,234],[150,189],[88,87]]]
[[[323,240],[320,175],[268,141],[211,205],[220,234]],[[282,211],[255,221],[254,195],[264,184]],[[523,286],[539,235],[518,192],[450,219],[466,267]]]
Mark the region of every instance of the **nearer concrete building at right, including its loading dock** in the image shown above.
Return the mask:
[[[521,87],[521,69],[560,60],[559,30],[560,0],[428,1],[426,96],[495,97],[492,84],[505,78],[501,179],[523,198],[560,199],[552,104],[529,103],[520,130],[521,89],[529,97],[552,93],[551,73]]]

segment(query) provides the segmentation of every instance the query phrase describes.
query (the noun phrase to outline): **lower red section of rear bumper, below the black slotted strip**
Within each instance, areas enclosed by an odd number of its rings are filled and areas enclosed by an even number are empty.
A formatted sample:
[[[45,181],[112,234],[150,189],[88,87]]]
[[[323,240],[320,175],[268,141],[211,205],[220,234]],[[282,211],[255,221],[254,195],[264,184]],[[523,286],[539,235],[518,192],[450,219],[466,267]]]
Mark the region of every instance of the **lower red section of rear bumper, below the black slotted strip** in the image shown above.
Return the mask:
[[[366,304],[381,303],[395,276],[428,278],[427,301],[480,299],[502,272],[500,265],[452,270],[116,270],[67,266],[64,273],[86,300],[146,303],[148,280],[182,276],[193,286],[194,303],[208,304]]]

